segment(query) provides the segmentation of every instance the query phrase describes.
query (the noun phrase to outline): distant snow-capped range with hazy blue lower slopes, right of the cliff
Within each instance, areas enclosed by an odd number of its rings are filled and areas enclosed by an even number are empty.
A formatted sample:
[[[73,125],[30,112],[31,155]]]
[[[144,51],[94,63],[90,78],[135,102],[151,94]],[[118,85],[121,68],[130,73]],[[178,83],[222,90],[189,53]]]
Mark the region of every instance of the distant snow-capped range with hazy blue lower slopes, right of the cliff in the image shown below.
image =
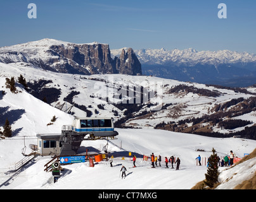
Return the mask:
[[[124,50],[127,48],[124,48]],[[111,50],[118,56],[122,49]],[[248,86],[255,83],[256,56],[231,50],[134,50],[143,74],[181,81]]]

